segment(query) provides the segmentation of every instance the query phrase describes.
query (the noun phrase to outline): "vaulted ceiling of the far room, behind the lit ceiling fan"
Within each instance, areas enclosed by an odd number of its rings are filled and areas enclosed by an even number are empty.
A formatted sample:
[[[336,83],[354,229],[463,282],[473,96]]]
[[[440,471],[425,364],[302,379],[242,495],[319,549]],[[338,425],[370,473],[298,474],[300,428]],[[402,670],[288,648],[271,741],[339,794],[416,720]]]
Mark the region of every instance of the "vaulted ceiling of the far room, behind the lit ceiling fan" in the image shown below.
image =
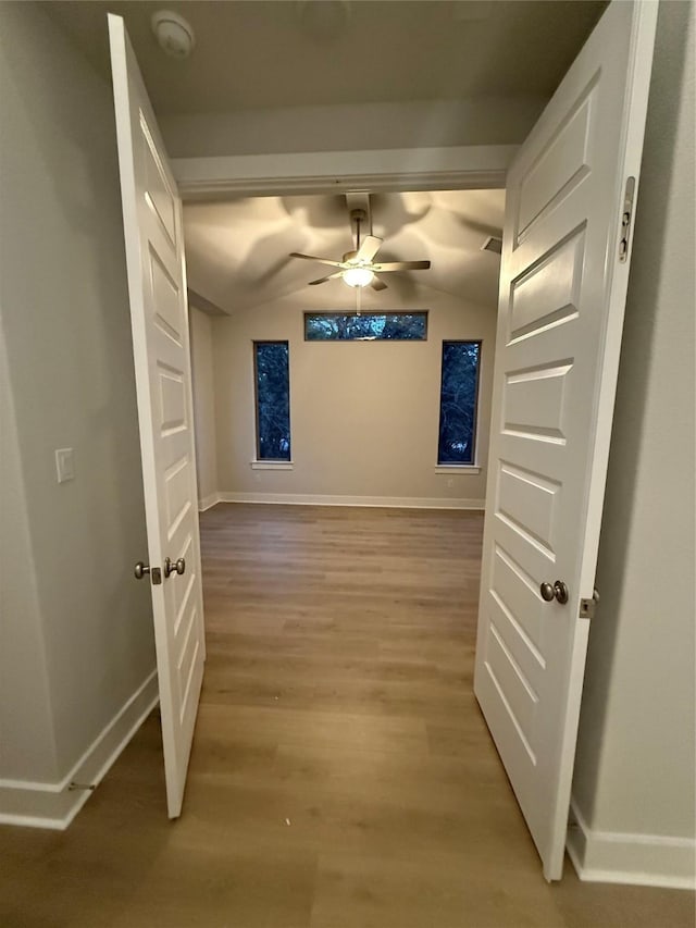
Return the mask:
[[[504,190],[373,194],[373,233],[384,239],[383,261],[430,259],[427,271],[383,275],[388,289],[372,302],[393,308],[417,285],[483,306],[496,306],[500,259],[482,251],[486,236],[502,230]],[[351,245],[346,198],[247,197],[184,205],[190,289],[224,312],[249,309],[296,292],[327,305],[345,297],[341,281],[308,287],[331,273],[290,251],[340,260]]]

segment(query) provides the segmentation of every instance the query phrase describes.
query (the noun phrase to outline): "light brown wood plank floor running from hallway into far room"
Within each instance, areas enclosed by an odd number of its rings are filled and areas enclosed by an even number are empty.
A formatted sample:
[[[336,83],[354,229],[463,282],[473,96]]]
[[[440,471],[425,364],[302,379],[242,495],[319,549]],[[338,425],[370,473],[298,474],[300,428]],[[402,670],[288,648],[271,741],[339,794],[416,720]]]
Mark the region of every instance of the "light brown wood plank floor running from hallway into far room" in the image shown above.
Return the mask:
[[[0,925],[686,928],[548,886],[472,694],[482,516],[224,505],[182,818],[152,716],[64,833],[0,829]]]

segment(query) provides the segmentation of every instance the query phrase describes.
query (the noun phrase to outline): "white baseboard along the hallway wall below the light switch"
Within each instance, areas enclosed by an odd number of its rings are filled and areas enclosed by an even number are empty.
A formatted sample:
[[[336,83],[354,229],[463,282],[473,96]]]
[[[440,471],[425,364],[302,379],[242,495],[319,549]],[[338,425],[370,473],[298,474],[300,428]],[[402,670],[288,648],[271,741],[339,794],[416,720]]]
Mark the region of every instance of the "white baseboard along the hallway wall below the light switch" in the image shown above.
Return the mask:
[[[92,793],[88,789],[71,790],[71,783],[100,783],[158,700],[157,670],[153,670],[61,781],[0,780],[0,824],[59,831],[67,828]]]

